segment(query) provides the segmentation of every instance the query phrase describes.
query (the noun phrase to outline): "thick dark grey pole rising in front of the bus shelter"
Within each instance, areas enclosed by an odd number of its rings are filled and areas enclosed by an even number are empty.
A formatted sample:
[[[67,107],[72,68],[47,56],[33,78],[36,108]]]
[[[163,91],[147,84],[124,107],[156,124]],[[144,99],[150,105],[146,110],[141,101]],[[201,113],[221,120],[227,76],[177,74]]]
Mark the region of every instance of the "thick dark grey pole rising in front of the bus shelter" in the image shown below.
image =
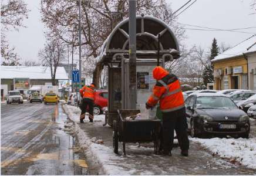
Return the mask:
[[[129,109],[136,109],[136,0],[129,0]]]

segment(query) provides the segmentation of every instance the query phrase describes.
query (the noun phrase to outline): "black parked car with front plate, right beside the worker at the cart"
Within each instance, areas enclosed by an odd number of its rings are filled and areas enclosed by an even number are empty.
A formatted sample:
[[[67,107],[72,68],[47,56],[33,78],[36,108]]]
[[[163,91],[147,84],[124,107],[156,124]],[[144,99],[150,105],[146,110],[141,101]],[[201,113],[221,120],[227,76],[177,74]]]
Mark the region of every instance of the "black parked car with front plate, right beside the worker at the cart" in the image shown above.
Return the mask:
[[[191,137],[249,136],[249,117],[224,94],[191,94],[185,101],[185,107]]]

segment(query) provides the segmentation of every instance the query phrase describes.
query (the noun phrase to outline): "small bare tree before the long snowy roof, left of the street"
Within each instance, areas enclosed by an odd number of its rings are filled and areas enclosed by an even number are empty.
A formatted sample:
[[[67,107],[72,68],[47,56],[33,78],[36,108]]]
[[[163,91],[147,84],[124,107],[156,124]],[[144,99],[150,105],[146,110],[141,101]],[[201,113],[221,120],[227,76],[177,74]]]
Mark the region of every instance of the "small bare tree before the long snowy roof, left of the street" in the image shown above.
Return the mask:
[[[45,47],[39,50],[38,56],[42,61],[42,65],[50,68],[52,85],[55,85],[57,67],[60,61],[65,60],[65,46],[58,39],[49,39]]]

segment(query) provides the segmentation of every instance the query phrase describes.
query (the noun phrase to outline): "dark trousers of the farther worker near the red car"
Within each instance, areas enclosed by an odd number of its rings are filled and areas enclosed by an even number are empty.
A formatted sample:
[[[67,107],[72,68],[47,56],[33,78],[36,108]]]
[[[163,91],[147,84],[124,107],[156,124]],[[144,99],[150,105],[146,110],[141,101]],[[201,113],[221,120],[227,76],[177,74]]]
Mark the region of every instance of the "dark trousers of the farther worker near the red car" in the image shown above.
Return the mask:
[[[89,106],[89,120],[93,121],[93,100],[83,98],[82,103],[80,104],[80,109],[81,109],[81,115],[80,115],[80,120],[85,119],[85,113],[87,106]]]

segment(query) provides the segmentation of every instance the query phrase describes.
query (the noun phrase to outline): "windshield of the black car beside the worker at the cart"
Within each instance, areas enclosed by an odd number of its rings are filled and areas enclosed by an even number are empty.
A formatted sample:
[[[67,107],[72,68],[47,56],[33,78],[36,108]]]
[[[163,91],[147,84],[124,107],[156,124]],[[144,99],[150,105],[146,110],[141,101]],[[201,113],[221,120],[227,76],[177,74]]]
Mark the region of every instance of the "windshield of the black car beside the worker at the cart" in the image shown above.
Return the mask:
[[[198,109],[237,109],[229,97],[220,96],[197,97],[196,107]]]

